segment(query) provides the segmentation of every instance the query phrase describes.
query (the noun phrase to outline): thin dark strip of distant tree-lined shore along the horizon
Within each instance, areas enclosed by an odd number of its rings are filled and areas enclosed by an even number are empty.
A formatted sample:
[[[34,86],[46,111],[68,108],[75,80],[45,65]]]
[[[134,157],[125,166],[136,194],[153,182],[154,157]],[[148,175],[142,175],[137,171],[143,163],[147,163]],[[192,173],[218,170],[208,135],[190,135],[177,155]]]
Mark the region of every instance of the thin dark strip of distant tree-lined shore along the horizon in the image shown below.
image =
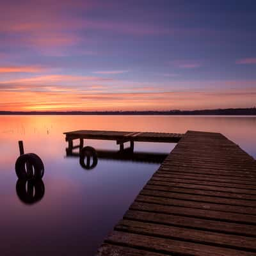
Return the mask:
[[[170,111],[0,111],[0,115],[256,115],[256,108]]]

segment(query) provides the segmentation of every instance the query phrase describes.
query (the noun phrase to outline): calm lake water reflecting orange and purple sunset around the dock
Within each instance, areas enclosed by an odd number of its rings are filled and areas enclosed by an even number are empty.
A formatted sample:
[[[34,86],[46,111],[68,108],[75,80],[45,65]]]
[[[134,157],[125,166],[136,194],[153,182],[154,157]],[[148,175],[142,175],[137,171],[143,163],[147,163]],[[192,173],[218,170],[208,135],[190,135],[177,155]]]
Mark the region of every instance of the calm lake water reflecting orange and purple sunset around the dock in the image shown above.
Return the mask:
[[[0,116],[1,255],[93,255],[159,163],[100,159],[84,170],[67,157],[63,132],[221,132],[256,158],[255,116]],[[18,141],[45,166],[35,204],[22,201],[15,161]],[[115,141],[87,140],[118,150]],[[135,143],[136,152],[168,153],[172,143]],[[26,186],[26,185],[24,185]],[[40,197],[42,197],[41,200]]]

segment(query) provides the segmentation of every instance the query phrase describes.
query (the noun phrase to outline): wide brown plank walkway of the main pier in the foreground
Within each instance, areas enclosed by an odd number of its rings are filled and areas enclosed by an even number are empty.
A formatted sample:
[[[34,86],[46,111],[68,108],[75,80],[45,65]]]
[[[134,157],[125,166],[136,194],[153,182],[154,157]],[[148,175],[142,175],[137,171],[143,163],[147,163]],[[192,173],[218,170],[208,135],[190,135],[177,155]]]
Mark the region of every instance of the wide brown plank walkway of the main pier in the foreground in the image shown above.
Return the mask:
[[[109,255],[256,255],[255,159],[186,132],[100,246]]]

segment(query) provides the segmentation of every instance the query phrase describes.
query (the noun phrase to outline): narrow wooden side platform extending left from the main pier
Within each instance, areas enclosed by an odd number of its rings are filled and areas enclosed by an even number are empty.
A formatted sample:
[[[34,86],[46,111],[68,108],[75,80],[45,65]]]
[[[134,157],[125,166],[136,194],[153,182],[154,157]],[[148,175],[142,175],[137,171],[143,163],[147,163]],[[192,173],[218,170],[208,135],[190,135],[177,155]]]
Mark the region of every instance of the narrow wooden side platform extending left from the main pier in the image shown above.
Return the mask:
[[[120,131],[72,131],[64,132],[66,140],[94,139],[116,140],[118,143],[126,141],[151,141],[151,142],[178,142],[183,134],[167,132],[120,132]]]

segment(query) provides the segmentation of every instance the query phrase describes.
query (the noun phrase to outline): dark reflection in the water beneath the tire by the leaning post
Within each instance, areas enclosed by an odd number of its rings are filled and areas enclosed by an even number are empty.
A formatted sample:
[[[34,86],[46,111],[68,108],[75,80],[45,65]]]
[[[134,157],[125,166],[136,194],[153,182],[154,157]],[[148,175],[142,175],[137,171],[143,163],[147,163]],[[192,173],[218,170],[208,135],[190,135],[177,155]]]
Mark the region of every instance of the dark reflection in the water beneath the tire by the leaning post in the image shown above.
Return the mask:
[[[28,186],[26,186],[28,183]],[[45,187],[43,180],[18,179],[16,193],[25,204],[35,204],[44,197]]]

